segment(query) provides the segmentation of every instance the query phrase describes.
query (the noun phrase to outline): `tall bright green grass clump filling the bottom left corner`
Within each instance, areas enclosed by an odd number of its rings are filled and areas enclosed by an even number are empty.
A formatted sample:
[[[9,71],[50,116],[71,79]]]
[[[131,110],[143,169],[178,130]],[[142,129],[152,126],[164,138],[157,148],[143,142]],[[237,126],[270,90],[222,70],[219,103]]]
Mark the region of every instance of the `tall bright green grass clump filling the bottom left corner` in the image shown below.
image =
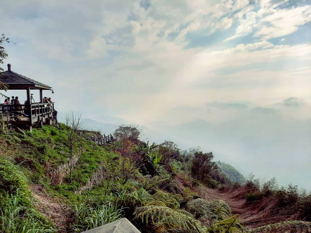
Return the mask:
[[[0,194],[0,232],[55,232],[34,207],[21,168],[4,159],[0,159]]]

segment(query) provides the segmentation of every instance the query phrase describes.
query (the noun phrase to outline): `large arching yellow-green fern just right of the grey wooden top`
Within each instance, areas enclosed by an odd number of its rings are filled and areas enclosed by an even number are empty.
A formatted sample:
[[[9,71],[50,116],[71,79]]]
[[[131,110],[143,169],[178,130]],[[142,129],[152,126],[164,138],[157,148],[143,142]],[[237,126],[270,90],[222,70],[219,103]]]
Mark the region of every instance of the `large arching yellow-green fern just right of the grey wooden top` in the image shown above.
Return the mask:
[[[198,233],[205,232],[201,223],[184,210],[165,206],[143,206],[136,208],[134,215],[143,223],[146,222],[146,225],[152,224],[151,232],[167,232],[172,228],[183,228]]]

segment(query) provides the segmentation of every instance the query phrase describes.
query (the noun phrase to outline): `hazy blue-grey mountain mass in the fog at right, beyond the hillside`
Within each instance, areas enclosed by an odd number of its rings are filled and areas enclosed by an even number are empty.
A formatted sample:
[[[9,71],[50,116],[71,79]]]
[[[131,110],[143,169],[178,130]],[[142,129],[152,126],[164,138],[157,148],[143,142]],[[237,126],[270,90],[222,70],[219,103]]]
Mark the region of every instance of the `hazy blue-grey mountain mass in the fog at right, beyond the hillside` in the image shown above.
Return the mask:
[[[261,179],[276,176],[281,185],[293,183],[311,189],[310,126],[311,120],[257,108],[230,121],[209,124],[196,120],[166,133],[184,139],[189,146],[213,151],[216,160],[230,163],[246,176],[250,172]]]

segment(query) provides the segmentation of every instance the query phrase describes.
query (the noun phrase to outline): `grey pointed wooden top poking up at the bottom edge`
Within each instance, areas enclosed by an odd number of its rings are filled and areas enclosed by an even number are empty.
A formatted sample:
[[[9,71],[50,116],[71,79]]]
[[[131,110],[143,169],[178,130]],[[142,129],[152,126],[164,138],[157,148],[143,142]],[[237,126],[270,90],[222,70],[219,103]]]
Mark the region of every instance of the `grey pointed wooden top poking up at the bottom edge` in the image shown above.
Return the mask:
[[[86,233],[141,233],[128,219],[121,218],[115,222],[93,228]]]

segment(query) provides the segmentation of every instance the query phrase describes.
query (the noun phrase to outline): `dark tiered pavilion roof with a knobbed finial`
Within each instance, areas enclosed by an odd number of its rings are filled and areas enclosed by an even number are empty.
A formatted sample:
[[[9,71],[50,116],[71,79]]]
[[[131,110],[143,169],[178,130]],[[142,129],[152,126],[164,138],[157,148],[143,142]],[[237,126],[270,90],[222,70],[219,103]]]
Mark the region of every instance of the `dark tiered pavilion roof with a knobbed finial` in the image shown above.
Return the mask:
[[[28,87],[30,87],[30,89],[51,89],[48,85],[13,72],[10,64],[8,64],[7,67],[7,71],[1,72],[0,81],[8,85],[8,89],[27,89]]]

